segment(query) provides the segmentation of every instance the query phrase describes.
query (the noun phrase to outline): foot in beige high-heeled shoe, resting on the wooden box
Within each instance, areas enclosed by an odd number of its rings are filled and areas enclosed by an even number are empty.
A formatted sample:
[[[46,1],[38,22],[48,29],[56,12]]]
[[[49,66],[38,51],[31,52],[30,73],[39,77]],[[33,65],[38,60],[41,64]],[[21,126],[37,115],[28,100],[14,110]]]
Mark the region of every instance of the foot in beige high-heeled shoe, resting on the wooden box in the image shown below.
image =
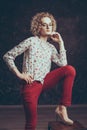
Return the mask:
[[[59,117],[62,119],[62,121],[67,124],[67,125],[73,125],[73,120],[69,119],[68,114],[67,114],[67,109],[63,105],[59,105],[56,110],[56,114],[59,115]]]

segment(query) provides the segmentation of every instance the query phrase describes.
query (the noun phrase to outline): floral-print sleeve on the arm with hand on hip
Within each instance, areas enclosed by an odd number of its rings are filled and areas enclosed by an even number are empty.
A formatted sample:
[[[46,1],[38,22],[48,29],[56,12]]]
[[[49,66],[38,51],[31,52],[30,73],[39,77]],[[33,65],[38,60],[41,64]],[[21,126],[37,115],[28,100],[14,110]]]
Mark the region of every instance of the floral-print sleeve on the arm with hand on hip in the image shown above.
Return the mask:
[[[18,55],[21,55],[24,51],[26,51],[31,44],[31,38],[28,38],[22,42],[20,42],[17,46],[15,46],[13,49],[8,51],[4,56],[3,59],[6,62],[7,66],[10,70],[16,67],[15,65],[15,58]]]

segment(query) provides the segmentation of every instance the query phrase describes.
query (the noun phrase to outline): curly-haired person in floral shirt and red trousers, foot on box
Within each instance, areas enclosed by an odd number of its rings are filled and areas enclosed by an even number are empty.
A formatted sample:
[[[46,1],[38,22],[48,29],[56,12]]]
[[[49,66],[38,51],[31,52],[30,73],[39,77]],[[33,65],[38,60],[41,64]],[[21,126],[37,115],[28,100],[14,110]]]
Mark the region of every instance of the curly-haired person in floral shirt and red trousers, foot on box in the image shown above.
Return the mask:
[[[76,75],[75,68],[67,63],[66,50],[61,35],[56,32],[57,22],[49,12],[40,12],[31,20],[33,36],[23,40],[4,54],[9,69],[21,79],[21,95],[25,111],[25,130],[35,130],[37,125],[37,104],[40,94],[55,87],[62,79],[62,97],[55,112],[67,125],[73,125],[67,113],[71,105],[72,88]],[[48,39],[59,45],[59,51]],[[15,58],[24,53],[23,69],[19,71]],[[51,63],[59,67],[51,70]]]

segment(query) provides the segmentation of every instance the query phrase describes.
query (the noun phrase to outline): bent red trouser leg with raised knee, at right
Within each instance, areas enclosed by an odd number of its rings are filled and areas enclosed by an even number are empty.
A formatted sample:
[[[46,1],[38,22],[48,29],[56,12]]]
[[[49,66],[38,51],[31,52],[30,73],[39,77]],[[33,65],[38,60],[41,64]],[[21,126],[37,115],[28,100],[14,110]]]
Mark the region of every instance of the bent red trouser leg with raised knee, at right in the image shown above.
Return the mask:
[[[60,104],[70,106],[75,74],[75,69],[70,65],[51,71],[44,79],[43,91],[55,87],[55,85],[63,79]]]

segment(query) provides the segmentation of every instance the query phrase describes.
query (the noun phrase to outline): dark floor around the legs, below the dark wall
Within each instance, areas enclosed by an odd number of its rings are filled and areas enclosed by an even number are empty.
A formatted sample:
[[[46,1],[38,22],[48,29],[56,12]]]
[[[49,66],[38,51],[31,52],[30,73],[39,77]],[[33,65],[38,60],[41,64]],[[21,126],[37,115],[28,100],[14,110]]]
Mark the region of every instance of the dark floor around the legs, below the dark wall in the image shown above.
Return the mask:
[[[55,121],[56,105],[38,106],[38,124],[36,130],[47,130],[48,122]],[[69,116],[87,127],[87,105],[72,105]],[[0,106],[0,130],[24,130],[24,111],[22,106]]]

